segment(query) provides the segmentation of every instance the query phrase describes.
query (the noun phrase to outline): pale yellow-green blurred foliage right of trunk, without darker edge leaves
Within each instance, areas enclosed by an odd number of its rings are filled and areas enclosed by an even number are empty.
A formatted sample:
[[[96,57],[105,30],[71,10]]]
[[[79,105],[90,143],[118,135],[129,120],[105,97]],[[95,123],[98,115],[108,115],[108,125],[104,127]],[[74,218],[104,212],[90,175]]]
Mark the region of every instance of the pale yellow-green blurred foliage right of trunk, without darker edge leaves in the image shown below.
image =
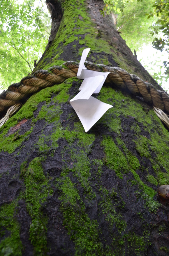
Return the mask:
[[[138,0],[105,0],[104,2],[103,12],[115,13],[117,30],[121,32],[133,52],[138,51],[144,42],[151,43],[149,27],[154,17],[147,19],[146,16],[147,12],[153,11],[150,0],[145,0],[144,4]]]

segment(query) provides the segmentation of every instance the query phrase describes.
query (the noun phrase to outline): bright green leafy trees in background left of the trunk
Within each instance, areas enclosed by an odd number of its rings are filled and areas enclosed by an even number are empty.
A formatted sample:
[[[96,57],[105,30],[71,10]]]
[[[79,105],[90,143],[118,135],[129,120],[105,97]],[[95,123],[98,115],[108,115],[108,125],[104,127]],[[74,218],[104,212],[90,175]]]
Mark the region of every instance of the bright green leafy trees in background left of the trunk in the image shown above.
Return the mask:
[[[44,52],[51,27],[44,5],[0,0],[0,89],[28,75]]]

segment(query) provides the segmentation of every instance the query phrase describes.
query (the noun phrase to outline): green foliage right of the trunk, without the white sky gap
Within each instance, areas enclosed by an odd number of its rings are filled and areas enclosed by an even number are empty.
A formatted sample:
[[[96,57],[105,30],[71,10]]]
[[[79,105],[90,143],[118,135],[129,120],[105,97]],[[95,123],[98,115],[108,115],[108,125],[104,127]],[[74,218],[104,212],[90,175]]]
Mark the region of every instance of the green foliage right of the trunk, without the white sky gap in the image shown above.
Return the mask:
[[[104,2],[105,7],[102,13],[115,14],[117,30],[133,52],[142,49],[144,43],[152,43],[155,49],[161,52],[165,50],[168,56],[169,3],[167,0],[104,0]],[[154,79],[167,81],[169,78],[168,61],[163,63],[166,69],[165,76],[161,72],[158,60],[154,65],[159,66],[159,72],[153,75]]]

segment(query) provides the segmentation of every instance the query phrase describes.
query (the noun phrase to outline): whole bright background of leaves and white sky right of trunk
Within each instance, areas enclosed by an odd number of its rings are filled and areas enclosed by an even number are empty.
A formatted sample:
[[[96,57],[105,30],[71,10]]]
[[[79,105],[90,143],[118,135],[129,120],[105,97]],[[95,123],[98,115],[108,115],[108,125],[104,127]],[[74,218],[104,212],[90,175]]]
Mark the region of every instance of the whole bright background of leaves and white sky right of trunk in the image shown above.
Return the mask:
[[[152,77],[168,90],[168,0],[103,0],[105,13],[113,13],[118,32]],[[152,42],[156,51],[152,47]],[[162,51],[163,49],[163,51]],[[162,52],[161,52],[162,51]],[[169,62],[168,62],[169,63]],[[164,74],[164,72],[168,72]]]

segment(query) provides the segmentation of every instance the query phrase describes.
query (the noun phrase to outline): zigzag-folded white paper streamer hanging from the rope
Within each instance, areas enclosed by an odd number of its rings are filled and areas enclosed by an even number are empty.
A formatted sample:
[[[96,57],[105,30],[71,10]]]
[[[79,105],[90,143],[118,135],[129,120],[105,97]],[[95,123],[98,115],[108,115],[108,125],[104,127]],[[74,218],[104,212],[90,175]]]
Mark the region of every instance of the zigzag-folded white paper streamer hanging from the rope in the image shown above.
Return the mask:
[[[93,93],[100,92],[110,72],[87,70],[84,66],[84,62],[89,51],[90,48],[87,48],[82,52],[77,73],[78,78],[84,79],[79,88],[80,92],[69,101],[78,115],[85,132],[89,131],[109,108],[113,108],[112,105],[103,103],[91,96]]]

